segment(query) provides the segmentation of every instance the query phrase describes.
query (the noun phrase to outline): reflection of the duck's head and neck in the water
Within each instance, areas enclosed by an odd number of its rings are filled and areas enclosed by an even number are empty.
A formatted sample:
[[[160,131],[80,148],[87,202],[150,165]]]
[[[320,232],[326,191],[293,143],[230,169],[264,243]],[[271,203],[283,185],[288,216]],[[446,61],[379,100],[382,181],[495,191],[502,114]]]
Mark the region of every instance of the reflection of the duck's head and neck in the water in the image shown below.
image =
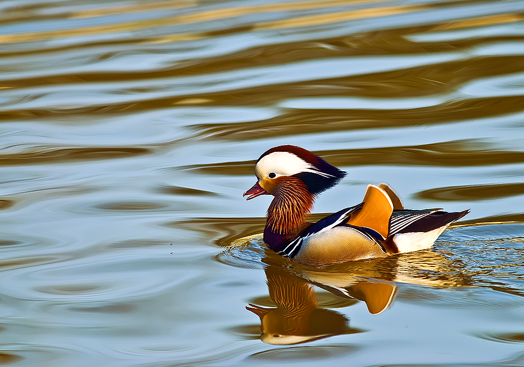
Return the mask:
[[[346,316],[320,307],[314,286],[301,277],[272,266],[266,268],[266,276],[277,307],[246,306],[260,317],[263,342],[297,344],[362,331],[350,328]]]

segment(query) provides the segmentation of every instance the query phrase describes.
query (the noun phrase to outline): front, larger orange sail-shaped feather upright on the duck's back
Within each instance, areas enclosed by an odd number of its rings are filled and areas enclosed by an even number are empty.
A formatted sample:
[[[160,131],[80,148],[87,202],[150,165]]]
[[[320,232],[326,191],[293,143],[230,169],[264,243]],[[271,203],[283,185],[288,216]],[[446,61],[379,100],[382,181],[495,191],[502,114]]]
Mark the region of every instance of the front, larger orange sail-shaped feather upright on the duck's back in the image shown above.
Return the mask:
[[[368,185],[362,204],[362,209],[352,214],[346,224],[372,229],[385,240],[389,233],[389,218],[394,208],[390,196],[384,188]]]

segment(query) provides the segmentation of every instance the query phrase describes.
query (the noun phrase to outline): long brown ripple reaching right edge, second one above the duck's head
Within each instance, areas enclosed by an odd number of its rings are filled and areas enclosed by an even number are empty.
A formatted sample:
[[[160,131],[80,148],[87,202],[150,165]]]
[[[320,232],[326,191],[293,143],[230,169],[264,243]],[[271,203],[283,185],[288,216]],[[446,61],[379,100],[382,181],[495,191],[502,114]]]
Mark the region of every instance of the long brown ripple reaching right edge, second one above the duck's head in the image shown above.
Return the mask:
[[[483,118],[521,112],[523,96],[477,98],[438,106],[401,110],[308,109],[291,110],[283,115],[244,124],[196,125],[197,136],[209,139],[243,141],[323,131],[380,129],[447,124],[466,118]]]

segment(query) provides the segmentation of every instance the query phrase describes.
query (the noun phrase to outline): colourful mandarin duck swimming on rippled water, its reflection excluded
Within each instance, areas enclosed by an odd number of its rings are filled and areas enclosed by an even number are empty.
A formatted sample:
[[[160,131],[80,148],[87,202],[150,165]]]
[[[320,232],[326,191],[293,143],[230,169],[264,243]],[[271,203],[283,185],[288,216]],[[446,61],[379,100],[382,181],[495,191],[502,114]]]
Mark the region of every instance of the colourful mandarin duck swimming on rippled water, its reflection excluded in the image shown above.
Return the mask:
[[[316,197],[346,174],[297,146],[282,145],[261,154],[255,163],[257,182],[243,196],[274,196],[263,237],[269,249],[318,269],[385,258],[429,249],[444,229],[470,212],[405,209],[400,196],[383,182],[368,185],[362,203],[316,223],[308,221]]]

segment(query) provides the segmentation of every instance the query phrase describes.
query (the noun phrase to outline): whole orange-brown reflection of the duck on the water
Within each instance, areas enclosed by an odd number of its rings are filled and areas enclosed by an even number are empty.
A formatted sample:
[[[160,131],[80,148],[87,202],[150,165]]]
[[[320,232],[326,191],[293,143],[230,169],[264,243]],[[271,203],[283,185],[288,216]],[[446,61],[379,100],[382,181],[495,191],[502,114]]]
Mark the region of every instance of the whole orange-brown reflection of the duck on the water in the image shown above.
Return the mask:
[[[378,315],[394,302],[401,283],[440,288],[470,283],[452,263],[432,251],[355,261],[327,270],[289,270],[274,260],[271,255],[266,257],[265,272],[269,297],[277,307],[246,306],[260,317],[260,339],[268,344],[297,344],[363,331],[351,328],[345,315],[322,308],[315,286],[346,299],[363,301],[370,314]]]

